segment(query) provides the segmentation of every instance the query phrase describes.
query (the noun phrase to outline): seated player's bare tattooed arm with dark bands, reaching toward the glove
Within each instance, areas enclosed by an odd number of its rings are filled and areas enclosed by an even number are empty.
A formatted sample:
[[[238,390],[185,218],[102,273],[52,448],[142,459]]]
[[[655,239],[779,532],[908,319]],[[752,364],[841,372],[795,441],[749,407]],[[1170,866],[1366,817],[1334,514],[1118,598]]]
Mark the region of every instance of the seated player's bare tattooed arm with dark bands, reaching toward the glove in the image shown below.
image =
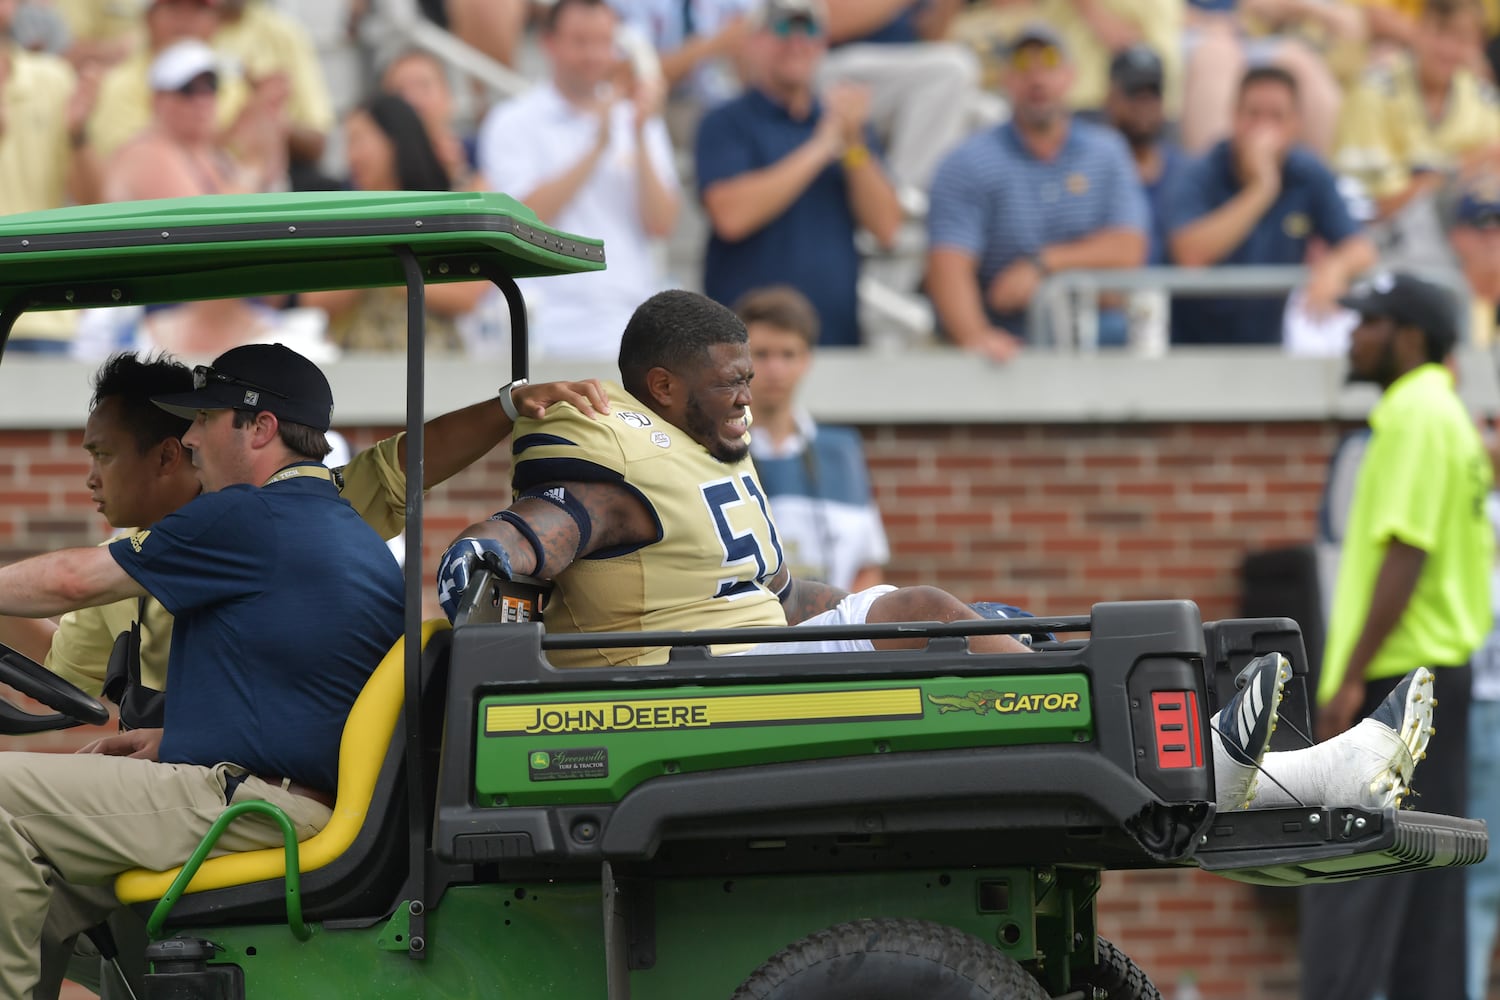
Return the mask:
[[[588,519],[588,540],[579,547],[582,528],[562,507],[522,496],[508,510],[518,514],[542,543],[543,561],[537,565],[536,549],[520,529],[504,520],[482,520],[459,532],[460,538],[494,538],[510,556],[516,573],[550,580],[568,568],[579,556],[600,549],[626,546],[656,538],[656,522],[640,499],[614,483],[548,483],[562,487],[578,501]]]

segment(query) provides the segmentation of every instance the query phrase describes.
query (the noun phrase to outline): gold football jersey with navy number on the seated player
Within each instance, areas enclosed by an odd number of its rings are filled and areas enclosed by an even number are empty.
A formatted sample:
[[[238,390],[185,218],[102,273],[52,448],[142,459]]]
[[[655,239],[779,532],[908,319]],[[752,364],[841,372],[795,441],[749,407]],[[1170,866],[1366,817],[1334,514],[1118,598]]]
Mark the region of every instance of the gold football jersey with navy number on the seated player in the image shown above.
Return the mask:
[[[548,631],[786,625],[770,591],[782,543],[750,457],[720,462],[615,382],[604,387],[608,415],[590,418],[558,403],[542,420],[516,421],[513,486],[519,493],[548,483],[621,483],[651,511],[657,537],[602,549],[560,573]],[[548,654],[568,667],[663,663],[666,655],[664,646]]]

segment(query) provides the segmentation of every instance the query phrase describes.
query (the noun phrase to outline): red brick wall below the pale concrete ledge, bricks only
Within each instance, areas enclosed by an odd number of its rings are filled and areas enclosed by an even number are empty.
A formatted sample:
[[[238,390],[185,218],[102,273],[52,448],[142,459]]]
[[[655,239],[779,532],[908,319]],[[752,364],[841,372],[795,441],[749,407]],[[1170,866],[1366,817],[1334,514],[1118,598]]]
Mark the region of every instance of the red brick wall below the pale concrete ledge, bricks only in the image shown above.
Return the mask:
[[[381,432],[350,433],[351,445]],[[874,489],[896,583],[940,582],[964,598],[1044,613],[1094,601],[1186,597],[1236,613],[1245,552],[1314,529],[1332,424],[870,427]],[[82,489],[78,432],[0,432],[0,558],[100,537]],[[506,457],[456,477],[428,504],[428,565],[506,496]],[[82,733],[12,741],[66,748]],[[1172,996],[1192,970],[1210,1000],[1296,996],[1286,897],[1202,873],[1119,873],[1104,934]]]

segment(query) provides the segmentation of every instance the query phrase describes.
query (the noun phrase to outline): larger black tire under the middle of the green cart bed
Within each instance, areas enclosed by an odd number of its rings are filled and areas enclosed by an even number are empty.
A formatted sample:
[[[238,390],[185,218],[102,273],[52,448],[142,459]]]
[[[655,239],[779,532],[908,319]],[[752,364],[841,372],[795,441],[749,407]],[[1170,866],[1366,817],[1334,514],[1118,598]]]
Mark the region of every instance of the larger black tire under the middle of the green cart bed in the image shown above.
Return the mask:
[[[1014,960],[927,921],[854,921],[783,948],[734,1000],[1047,1000]]]

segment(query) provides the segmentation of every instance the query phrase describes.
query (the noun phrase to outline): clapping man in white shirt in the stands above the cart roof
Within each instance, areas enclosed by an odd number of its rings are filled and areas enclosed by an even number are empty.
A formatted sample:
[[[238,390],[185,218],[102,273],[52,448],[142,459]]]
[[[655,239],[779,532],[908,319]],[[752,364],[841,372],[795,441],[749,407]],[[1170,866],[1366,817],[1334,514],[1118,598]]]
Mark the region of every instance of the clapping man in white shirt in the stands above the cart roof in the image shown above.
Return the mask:
[[[616,15],[604,0],[558,0],[542,45],[552,79],[486,115],[478,166],[492,190],[560,229],[604,240],[609,267],[522,282],[531,343],[548,357],[614,358],[630,313],[663,285],[652,243],[680,207],[660,81],[615,84]]]

